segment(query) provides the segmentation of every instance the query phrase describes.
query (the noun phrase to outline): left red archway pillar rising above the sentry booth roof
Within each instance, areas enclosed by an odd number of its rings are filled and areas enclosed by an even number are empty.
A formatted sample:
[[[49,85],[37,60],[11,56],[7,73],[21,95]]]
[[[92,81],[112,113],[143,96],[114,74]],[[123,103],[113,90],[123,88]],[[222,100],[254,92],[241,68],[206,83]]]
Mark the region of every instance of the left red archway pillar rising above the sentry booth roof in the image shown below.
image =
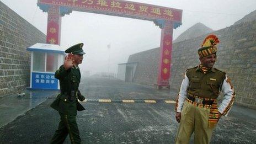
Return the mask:
[[[50,6],[47,19],[47,44],[60,45],[61,39],[61,16],[60,7]]]

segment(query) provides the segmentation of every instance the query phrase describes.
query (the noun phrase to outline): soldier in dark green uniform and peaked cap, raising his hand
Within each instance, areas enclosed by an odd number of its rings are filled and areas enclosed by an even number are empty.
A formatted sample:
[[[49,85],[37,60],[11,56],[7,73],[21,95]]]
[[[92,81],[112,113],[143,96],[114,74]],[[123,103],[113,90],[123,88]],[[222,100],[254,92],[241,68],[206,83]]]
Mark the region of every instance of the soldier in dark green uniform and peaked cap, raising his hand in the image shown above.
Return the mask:
[[[63,143],[70,136],[71,143],[81,143],[79,130],[76,122],[77,110],[84,110],[78,99],[83,101],[85,98],[81,95],[78,87],[81,79],[81,73],[78,65],[83,61],[83,44],[73,45],[65,52],[64,64],[55,72],[55,78],[60,81],[61,93],[58,94],[51,107],[60,114],[60,123],[58,129],[52,137],[51,143]]]

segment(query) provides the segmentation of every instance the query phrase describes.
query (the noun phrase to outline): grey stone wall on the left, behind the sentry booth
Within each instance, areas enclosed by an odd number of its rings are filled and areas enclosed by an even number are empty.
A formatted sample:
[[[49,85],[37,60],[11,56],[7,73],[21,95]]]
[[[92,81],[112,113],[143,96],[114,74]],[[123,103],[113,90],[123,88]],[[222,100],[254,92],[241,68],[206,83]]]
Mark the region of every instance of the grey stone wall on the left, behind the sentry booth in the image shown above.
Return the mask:
[[[26,47],[46,36],[0,1],[0,97],[30,84],[30,52]]]

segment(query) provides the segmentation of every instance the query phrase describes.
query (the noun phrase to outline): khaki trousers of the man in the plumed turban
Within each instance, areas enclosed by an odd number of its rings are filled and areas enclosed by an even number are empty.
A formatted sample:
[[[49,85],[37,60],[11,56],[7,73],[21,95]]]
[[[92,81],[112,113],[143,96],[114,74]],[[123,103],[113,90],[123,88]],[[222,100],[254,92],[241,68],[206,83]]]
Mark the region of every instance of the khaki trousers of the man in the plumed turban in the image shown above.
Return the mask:
[[[185,100],[175,143],[189,143],[193,132],[195,132],[194,143],[210,143],[214,128],[208,127],[209,114],[209,108],[200,108]]]

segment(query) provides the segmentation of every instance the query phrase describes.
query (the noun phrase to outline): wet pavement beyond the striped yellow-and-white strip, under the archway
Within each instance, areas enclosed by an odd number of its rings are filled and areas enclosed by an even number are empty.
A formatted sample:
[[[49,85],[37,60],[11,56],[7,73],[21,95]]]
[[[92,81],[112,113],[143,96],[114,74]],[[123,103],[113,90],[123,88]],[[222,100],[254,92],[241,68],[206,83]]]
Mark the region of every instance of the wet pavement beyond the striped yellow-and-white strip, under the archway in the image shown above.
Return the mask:
[[[177,92],[161,91],[135,83],[109,79],[86,79],[79,86],[87,99],[174,99]]]

